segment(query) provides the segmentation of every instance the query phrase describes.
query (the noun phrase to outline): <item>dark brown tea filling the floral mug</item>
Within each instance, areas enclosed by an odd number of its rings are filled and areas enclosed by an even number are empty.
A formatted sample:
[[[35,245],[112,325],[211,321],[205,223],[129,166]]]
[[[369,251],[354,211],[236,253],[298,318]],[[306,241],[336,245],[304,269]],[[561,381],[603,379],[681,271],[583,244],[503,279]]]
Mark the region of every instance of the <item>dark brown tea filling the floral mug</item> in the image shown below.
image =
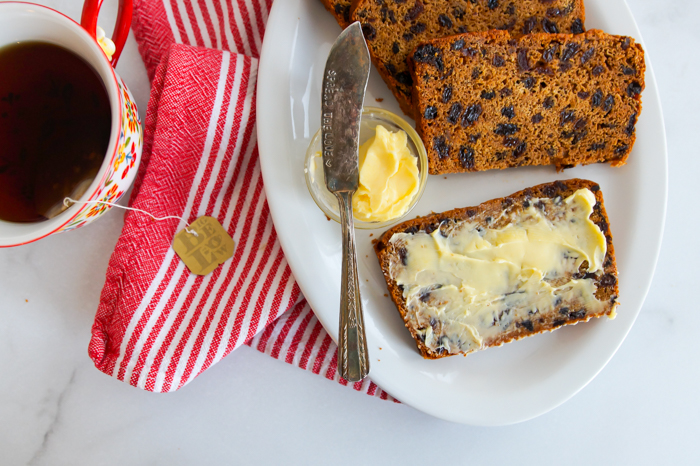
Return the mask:
[[[97,72],[58,45],[0,48],[0,220],[37,222],[82,196],[112,124]]]

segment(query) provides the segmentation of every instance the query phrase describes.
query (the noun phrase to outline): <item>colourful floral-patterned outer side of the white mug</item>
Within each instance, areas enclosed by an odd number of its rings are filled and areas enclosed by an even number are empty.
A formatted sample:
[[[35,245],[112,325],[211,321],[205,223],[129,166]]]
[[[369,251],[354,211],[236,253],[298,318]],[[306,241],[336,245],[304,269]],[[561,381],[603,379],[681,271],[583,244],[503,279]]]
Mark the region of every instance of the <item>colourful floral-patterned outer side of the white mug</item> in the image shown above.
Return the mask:
[[[119,100],[121,105],[121,127],[117,150],[112,154],[107,176],[90,201],[115,203],[131,186],[136,176],[138,162],[143,148],[143,127],[139,118],[134,98],[117,76]],[[107,212],[111,206],[101,203],[85,204],[67,225],[57,231],[68,231],[79,228]]]

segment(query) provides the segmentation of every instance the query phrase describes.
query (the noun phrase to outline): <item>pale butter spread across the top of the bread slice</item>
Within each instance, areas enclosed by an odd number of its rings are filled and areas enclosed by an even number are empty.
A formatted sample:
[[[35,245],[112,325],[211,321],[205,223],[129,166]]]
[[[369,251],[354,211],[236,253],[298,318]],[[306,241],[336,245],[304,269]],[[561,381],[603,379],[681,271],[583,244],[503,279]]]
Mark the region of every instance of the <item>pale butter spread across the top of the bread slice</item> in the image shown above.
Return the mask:
[[[598,312],[592,277],[603,268],[605,235],[590,219],[596,199],[580,189],[567,199],[533,199],[522,210],[493,221],[447,222],[431,234],[397,233],[391,238],[403,258],[390,274],[404,289],[411,319],[425,320],[425,344],[449,353],[474,351],[515,322],[554,312],[561,302]],[[506,220],[506,222],[502,222]],[[586,311],[586,312],[588,312]],[[438,325],[441,335],[433,335]]]

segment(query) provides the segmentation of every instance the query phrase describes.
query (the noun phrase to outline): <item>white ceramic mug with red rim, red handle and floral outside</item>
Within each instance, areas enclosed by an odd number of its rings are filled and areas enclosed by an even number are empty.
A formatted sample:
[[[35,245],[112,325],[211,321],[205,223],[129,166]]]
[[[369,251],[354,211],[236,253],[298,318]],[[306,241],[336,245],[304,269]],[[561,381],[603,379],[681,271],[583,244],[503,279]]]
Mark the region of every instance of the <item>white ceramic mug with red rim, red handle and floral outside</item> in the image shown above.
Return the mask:
[[[21,41],[49,42],[81,57],[104,83],[112,112],[112,128],[104,161],[80,202],[56,217],[40,222],[13,223],[0,220],[0,247],[19,246],[62,231],[86,225],[103,215],[109,206],[84,201],[116,202],[131,186],[141,159],[143,130],[134,98],[115,73],[119,55],[131,26],[132,0],[119,1],[114,28],[116,51],[112,60],[97,42],[97,16],[102,0],[86,0],[80,24],[67,16],[32,3],[0,3],[0,47]]]

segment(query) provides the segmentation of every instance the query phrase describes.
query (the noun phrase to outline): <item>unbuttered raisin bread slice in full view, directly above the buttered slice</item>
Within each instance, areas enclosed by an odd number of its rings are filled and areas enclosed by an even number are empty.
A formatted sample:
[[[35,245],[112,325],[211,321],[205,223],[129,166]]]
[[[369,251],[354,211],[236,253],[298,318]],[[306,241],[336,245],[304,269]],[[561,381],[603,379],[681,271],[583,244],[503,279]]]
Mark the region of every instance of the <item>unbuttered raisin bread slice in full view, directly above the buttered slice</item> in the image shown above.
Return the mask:
[[[504,31],[436,39],[411,56],[431,174],[521,165],[624,165],[642,110],[629,37]]]

